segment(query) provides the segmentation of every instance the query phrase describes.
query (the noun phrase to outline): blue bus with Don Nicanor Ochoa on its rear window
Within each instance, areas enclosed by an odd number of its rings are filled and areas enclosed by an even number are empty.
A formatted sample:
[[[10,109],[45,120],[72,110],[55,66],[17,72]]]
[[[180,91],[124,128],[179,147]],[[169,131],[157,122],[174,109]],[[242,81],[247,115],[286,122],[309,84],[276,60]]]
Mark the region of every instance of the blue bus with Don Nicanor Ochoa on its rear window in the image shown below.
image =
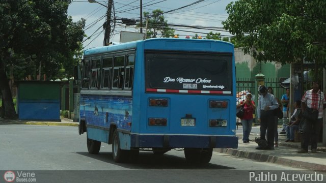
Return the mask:
[[[79,134],[90,154],[112,144],[115,162],[140,150],[183,149],[209,163],[213,148],[237,148],[234,46],[155,38],[85,50]]]

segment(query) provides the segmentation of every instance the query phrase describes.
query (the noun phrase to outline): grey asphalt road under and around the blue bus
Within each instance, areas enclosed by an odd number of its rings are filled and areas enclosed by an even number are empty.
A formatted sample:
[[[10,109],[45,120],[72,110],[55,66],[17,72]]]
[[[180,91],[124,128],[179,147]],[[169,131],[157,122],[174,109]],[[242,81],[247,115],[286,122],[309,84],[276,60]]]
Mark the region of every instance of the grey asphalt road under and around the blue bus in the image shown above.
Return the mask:
[[[16,178],[19,171],[34,172],[36,182],[249,182],[250,171],[301,172],[216,152],[209,164],[192,165],[177,150],[141,152],[138,162],[119,164],[108,144],[102,143],[99,155],[88,154],[86,134],[78,135],[77,127],[0,125],[0,146],[0,182],[8,170]]]

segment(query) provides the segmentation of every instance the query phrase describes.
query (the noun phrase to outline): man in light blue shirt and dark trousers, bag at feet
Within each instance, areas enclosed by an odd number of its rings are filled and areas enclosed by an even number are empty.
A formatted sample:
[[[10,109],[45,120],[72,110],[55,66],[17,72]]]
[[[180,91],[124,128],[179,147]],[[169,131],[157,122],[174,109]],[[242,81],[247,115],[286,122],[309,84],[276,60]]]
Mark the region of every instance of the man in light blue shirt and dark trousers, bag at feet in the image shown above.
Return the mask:
[[[273,110],[279,107],[274,95],[267,92],[267,88],[262,85],[259,87],[259,98],[257,105],[257,117],[260,122],[260,138],[266,139],[267,130],[267,143],[266,148],[256,147],[256,149],[270,149],[274,150],[274,129],[275,129],[275,117]]]

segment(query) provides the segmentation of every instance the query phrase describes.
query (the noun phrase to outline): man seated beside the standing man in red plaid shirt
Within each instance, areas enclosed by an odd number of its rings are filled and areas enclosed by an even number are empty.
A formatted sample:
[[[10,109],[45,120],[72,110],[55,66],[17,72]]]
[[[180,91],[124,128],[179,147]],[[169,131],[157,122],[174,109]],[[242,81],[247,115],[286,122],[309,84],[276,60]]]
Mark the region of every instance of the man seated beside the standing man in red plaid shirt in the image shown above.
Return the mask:
[[[299,129],[301,120],[301,101],[294,102],[294,112],[291,115],[289,123],[286,125],[286,137],[285,142],[294,142],[294,133]]]

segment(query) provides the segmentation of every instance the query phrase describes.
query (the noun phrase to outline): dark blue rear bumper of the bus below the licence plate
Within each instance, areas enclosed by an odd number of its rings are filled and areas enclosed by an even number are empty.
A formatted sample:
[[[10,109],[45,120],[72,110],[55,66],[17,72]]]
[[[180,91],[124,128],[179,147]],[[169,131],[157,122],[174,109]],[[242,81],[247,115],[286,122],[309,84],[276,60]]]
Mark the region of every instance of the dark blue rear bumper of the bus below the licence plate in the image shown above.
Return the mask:
[[[131,147],[237,148],[236,136],[138,135],[131,134]]]

